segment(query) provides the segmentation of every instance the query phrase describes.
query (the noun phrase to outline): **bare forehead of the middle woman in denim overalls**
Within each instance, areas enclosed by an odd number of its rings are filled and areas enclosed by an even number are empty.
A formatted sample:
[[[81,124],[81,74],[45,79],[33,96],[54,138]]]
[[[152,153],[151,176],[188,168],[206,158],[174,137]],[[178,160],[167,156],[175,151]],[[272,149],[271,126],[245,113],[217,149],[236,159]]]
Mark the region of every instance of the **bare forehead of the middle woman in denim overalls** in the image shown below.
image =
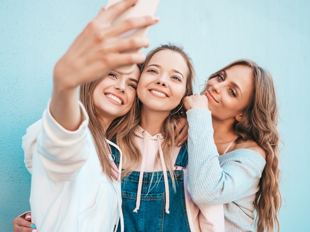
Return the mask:
[[[177,51],[163,49],[157,51],[149,60],[146,66],[156,64],[166,70],[177,70],[184,77],[188,75],[188,66],[185,58]]]

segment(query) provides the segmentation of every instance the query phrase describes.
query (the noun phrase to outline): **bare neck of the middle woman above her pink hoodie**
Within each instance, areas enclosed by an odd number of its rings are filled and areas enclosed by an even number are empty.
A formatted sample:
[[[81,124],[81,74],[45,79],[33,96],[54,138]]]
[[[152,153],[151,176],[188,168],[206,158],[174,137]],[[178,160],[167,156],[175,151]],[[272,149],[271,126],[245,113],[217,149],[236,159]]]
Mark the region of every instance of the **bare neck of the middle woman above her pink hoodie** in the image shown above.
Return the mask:
[[[161,133],[161,127],[164,120],[169,116],[169,112],[152,111],[141,108],[140,126],[146,130],[151,136]]]

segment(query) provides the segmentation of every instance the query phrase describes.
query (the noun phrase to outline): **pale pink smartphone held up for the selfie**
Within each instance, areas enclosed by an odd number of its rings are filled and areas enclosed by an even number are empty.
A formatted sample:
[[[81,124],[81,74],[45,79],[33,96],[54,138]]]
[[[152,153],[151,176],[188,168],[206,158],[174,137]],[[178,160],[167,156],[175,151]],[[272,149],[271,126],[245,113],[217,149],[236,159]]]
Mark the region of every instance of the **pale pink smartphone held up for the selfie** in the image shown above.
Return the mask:
[[[121,0],[108,0],[105,8],[108,8],[109,6],[119,1]],[[113,20],[112,24],[124,21],[128,18],[135,18],[135,17],[146,16],[146,15],[154,16],[158,4],[159,4],[159,0],[138,0],[134,6],[128,8],[126,11],[118,15]],[[125,37],[144,37],[145,38],[148,35],[149,29],[150,27],[144,27],[144,28],[130,30],[120,35],[120,38],[125,38]],[[135,51],[140,52],[141,49],[137,49]],[[132,50],[130,50],[130,52],[132,52]],[[126,65],[126,66],[117,68],[115,71],[120,72],[120,73],[131,73],[134,67],[135,65]]]

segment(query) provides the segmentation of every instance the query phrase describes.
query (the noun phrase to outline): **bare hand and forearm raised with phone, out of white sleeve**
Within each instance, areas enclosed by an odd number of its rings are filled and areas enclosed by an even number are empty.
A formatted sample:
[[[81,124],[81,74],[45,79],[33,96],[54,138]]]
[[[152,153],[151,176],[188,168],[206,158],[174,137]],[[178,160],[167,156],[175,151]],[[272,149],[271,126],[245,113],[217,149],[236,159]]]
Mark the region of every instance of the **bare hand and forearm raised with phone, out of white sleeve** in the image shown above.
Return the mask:
[[[51,112],[67,130],[75,130],[81,122],[77,104],[80,85],[97,80],[109,70],[144,61],[142,53],[125,51],[147,47],[149,40],[143,37],[120,38],[120,35],[136,28],[149,27],[158,19],[143,16],[112,23],[136,3],[137,0],[121,0],[107,9],[101,8],[57,61],[53,73]]]

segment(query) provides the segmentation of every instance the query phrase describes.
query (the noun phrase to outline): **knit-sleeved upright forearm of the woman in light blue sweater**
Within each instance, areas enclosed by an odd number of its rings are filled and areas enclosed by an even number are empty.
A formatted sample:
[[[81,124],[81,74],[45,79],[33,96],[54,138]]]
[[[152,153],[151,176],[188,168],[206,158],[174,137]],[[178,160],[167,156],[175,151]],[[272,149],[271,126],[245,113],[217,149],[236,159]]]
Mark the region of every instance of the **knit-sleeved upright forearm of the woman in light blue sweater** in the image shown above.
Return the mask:
[[[187,111],[189,122],[189,191],[194,201],[212,203],[222,188],[223,173],[213,140],[211,112],[206,109]]]

